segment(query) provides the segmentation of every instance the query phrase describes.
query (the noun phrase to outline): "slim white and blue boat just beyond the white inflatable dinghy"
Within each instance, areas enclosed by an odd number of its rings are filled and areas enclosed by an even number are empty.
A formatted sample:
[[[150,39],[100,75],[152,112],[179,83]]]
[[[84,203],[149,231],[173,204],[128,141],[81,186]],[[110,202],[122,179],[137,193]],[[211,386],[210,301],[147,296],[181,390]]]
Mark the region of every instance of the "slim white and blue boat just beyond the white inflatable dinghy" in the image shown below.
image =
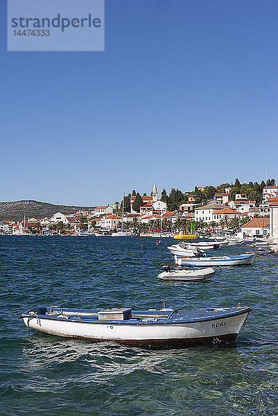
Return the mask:
[[[182,257],[175,256],[177,266],[243,266],[252,264],[254,254],[239,254],[238,256],[219,257]]]

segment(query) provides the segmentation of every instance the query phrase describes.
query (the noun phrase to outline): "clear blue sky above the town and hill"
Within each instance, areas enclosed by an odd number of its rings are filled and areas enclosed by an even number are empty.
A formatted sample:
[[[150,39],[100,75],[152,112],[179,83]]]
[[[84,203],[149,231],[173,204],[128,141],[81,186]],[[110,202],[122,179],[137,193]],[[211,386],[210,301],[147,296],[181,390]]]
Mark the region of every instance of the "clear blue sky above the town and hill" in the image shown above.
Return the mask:
[[[276,0],[106,0],[105,52],[7,52],[5,3],[1,201],[278,176]]]

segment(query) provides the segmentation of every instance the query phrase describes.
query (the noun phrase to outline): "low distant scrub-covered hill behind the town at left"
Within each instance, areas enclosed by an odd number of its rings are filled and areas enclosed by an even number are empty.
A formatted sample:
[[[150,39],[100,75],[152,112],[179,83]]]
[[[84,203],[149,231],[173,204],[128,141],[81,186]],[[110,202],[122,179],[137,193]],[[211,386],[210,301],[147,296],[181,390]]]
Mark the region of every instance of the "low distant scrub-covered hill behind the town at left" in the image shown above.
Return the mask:
[[[91,210],[92,207],[73,207],[69,205],[53,205],[48,202],[39,202],[33,200],[0,202],[0,221],[3,220],[23,220],[26,218],[44,218],[62,212],[62,214],[73,214],[73,212],[84,209]]]

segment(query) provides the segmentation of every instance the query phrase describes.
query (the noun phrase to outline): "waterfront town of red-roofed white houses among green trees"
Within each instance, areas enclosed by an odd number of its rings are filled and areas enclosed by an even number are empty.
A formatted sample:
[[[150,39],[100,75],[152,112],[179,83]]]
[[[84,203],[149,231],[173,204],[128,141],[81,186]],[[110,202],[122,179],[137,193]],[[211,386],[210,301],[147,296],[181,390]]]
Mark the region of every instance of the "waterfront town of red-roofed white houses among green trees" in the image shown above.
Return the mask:
[[[135,190],[121,202],[79,209],[73,214],[56,212],[33,218],[25,213],[18,220],[2,220],[4,235],[68,236],[174,236],[210,233],[278,238],[278,186],[275,180],[217,187],[195,187],[193,191],[163,189],[157,185],[150,195]]]

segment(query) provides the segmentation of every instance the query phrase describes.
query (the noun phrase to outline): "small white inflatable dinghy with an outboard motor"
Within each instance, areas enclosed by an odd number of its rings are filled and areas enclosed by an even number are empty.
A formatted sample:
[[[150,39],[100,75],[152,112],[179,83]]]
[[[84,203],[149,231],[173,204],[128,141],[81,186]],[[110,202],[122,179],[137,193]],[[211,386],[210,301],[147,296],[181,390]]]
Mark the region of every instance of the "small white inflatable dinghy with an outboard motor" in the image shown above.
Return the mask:
[[[171,270],[170,266],[162,266],[162,270],[157,277],[167,281],[203,281],[215,275],[215,270],[211,267],[199,270]]]

